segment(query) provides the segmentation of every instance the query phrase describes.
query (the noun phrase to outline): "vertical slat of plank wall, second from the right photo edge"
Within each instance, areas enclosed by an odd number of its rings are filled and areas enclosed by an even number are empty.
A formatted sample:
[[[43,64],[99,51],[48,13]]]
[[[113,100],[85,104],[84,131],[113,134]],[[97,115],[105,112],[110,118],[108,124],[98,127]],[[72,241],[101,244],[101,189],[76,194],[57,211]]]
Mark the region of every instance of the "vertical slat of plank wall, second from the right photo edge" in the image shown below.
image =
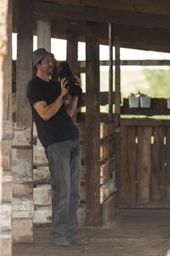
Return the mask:
[[[150,201],[163,201],[164,197],[164,130],[153,128],[154,143],[151,150]]]

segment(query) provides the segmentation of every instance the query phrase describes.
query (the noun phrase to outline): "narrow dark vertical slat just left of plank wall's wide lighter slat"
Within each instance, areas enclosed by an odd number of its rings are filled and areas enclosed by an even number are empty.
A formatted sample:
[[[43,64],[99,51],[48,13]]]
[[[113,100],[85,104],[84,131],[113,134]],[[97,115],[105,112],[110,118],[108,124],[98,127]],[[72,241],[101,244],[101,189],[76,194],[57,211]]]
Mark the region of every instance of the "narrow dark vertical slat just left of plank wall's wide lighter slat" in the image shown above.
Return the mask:
[[[136,127],[127,127],[127,172],[128,172],[128,188],[129,202],[136,201]]]

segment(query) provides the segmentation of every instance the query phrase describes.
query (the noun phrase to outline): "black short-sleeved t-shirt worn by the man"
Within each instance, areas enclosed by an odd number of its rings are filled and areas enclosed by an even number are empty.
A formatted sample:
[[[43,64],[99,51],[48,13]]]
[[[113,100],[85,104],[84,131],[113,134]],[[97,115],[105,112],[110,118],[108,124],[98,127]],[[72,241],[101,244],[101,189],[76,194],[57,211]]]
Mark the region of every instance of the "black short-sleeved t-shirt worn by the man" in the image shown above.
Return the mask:
[[[27,84],[26,96],[31,103],[33,118],[37,126],[37,134],[43,145],[48,145],[78,138],[77,127],[65,111],[65,105],[53,117],[44,121],[33,107],[35,102],[45,101],[50,104],[60,94],[60,84],[56,81],[46,82],[38,77],[31,79]]]

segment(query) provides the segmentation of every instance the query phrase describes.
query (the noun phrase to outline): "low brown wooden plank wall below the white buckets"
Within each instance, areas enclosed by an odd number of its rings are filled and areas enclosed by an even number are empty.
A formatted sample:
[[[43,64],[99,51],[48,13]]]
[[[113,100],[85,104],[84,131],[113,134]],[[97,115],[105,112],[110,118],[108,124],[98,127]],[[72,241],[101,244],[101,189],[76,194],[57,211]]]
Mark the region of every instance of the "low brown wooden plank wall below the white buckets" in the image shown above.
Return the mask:
[[[170,121],[122,119],[119,201],[170,207]]]

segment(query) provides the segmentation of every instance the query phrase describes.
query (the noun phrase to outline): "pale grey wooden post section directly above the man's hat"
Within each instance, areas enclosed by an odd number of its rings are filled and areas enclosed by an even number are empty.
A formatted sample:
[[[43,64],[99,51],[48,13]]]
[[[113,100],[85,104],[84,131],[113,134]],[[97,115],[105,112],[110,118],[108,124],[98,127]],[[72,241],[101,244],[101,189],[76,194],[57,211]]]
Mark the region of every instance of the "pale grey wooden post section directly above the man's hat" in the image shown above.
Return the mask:
[[[51,21],[37,20],[37,48],[45,48],[51,52]]]

